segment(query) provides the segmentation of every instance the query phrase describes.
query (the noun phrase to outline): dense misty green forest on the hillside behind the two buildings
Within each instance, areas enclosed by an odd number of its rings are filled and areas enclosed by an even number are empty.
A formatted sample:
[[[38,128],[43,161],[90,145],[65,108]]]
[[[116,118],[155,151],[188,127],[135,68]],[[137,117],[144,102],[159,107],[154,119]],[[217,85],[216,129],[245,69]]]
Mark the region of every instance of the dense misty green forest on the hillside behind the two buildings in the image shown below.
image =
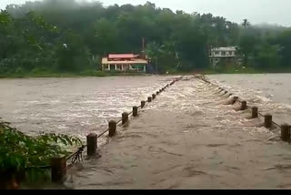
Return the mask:
[[[91,74],[108,53],[140,53],[143,38],[159,73],[210,69],[212,46],[238,46],[246,68],[291,70],[291,28],[174,13],[150,2],[105,7],[99,2],[44,0],[8,5],[0,14],[0,35],[2,77]]]

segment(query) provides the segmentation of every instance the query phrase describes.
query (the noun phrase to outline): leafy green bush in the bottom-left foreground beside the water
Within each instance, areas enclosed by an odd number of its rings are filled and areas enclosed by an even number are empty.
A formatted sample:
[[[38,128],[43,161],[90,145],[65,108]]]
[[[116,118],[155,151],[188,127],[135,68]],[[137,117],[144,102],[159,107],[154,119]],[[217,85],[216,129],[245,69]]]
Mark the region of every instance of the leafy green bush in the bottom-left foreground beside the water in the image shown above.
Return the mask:
[[[5,188],[2,185],[6,180],[20,180],[19,177],[24,180],[25,176],[19,175],[21,173],[28,175],[30,180],[37,180],[37,175],[44,173],[40,168],[49,166],[51,158],[65,157],[69,153],[65,147],[80,145],[80,139],[65,135],[29,137],[11,128],[9,123],[0,121],[0,189]]]

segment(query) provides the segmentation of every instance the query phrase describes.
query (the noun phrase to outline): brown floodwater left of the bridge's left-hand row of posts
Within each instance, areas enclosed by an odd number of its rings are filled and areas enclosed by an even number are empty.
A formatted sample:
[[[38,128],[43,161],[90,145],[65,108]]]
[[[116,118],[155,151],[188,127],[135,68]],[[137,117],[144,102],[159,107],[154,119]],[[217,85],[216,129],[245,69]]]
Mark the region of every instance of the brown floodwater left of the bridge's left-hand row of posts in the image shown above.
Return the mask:
[[[84,77],[0,80],[0,118],[35,135],[84,139],[168,83],[172,77]]]

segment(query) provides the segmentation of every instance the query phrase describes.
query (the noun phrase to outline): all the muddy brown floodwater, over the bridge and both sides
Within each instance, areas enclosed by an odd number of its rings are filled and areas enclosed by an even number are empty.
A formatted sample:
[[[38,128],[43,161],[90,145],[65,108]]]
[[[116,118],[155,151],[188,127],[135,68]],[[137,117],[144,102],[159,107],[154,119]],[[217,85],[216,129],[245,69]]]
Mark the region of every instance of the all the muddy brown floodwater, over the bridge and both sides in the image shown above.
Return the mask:
[[[290,76],[209,78],[281,123],[291,122]],[[172,78],[2,79],[1,117],[29,134],[84,138]],[[279,129],[260,128],[262,118],[246,119],[214,91],[193,78],[177,82],[114,139],[101,139],[101,159],[70,169],[64,185],[37,188],[291,189],[291,148],[276,139]]]

